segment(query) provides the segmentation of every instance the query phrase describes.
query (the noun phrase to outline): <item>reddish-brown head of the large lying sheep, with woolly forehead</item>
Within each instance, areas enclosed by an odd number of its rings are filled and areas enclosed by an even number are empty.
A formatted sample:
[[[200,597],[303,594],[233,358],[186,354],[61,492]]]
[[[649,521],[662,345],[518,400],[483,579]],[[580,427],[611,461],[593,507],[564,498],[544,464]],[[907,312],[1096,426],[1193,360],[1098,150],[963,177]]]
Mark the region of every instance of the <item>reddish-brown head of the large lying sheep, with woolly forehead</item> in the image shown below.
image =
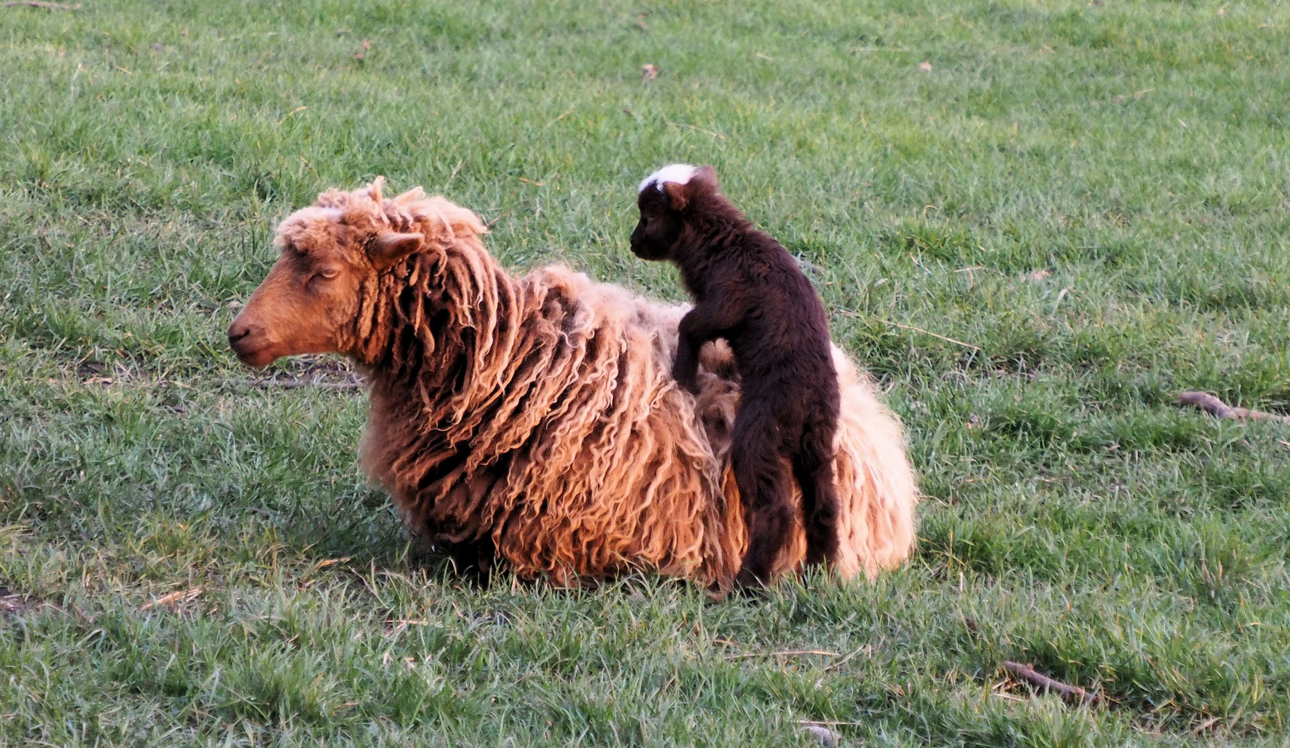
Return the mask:
[[[383,201],[383,182],[355,192],[329,190],[283,221],[276,240],[283,254],[228,326],[243,364],[267,366],[283,356],[352,346],[362,288],[424,241],[399,210],[401,201],[424,200],[421,188]]]

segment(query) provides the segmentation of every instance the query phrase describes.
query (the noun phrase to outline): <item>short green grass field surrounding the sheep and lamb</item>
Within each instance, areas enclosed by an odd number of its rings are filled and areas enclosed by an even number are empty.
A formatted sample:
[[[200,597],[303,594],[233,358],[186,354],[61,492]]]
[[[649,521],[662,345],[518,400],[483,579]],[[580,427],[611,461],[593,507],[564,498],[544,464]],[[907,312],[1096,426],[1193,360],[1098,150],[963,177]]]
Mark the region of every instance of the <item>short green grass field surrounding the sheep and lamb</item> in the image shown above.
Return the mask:
[[[0,9],[0,744],[1286,740],[1290,427],[1171,399],[1290,409],[1290,4],[83,3]],[[223,340],[275,222],[377,174],[680,299],[627,250],[673,160],[904,419],[908,567],[476,588],[361,396]]]

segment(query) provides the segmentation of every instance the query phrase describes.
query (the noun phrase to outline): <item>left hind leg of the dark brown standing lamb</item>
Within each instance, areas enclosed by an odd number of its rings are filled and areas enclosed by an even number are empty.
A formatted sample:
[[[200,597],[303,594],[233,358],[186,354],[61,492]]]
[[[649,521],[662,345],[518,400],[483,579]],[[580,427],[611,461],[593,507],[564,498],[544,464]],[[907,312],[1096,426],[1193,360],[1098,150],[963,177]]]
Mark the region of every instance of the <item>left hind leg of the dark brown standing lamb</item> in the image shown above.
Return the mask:
[[[735,418],[733,440],[731,467],[748,525],[748,551],[735,582],[755,587],[770,582],[797,512],[775,422],[744,410]]]

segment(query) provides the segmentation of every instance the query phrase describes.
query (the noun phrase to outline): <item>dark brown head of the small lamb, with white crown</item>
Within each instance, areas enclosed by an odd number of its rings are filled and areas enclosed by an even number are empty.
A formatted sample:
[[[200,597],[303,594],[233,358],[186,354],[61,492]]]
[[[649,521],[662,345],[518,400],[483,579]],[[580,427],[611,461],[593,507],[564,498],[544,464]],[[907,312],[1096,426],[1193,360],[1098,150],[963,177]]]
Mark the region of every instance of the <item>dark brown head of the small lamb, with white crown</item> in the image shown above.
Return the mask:
[[[676,259],[673,251],[695,199],[716,191],[717,174],[712,166],[672,164],[646,177],[636,199],[641,219],[632,231],[632,254],[641,259]]]

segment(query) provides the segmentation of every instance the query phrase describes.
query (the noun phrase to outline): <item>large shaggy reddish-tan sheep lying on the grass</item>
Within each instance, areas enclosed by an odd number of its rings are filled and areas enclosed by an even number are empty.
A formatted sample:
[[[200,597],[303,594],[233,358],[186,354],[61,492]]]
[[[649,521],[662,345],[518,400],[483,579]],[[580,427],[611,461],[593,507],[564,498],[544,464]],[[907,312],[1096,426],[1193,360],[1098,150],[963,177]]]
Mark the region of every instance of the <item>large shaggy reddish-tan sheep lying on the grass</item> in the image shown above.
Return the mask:
[[[228,328],[239,359],[339,352],[370,387],[361,464],[408,526],[461,564],[556,584],[641,569],[729,589],[747,547],[730,473],[728,348],[671,377],[684,307],[564,267],[508,275],[479,217],[382,181],[329,190],[277,230],[281,255]],[[904,440],[833,348],[845,578],[898,566],[917,497]],[[775,571],[797,569],[796,527]]]

